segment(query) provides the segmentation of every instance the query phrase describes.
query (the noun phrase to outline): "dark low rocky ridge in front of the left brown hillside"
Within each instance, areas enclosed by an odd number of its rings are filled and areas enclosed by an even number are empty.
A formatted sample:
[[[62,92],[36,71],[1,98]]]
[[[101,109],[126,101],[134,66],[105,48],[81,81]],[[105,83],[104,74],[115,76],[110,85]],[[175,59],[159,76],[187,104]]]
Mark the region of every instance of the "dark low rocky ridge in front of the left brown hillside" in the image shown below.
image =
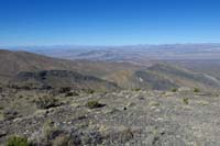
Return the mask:
[[[118,89],[116,83],[102,79],[84,76],[78,72],[67,70],[43,70],[43,71],[23,71],[18,74],[11,81],[13,88],[28,89],[51,89],[65,88],[73,89],[96,89],[96,90],[114,90]]]

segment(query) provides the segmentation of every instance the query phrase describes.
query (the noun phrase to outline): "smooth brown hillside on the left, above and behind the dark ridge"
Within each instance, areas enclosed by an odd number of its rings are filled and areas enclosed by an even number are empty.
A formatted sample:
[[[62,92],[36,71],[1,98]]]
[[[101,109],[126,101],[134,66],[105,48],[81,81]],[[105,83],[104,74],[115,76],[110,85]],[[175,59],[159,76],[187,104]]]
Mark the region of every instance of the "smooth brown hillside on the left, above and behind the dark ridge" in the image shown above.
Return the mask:
[[[101,77],[124,68],[132,70],[139,68],[130,64],[66,60],[33,53],[10,52],[6,49],[0,49],[0,78],[3,80],[10,79],[20,71],[72,70]]]

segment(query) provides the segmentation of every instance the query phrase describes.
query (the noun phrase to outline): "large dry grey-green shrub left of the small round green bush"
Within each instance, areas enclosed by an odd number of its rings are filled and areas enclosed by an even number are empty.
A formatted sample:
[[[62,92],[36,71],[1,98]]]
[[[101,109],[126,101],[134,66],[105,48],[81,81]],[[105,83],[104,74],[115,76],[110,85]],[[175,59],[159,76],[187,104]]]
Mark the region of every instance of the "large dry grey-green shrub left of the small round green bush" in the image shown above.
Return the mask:
[[[35,100],[35,104],[38,109],[50,109],[61,105],[57,99],[50,96],[40,97]]]

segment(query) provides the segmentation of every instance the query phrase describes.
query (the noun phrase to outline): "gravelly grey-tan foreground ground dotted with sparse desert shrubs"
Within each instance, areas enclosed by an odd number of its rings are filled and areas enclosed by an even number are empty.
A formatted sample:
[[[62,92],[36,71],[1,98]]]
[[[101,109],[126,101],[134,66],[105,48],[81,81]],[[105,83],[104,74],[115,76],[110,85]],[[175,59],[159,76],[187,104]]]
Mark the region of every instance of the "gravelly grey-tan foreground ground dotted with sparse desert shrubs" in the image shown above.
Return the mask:
[[[220,145],[220,96],[193,90],[34,91],[0,96],[0,144]]]

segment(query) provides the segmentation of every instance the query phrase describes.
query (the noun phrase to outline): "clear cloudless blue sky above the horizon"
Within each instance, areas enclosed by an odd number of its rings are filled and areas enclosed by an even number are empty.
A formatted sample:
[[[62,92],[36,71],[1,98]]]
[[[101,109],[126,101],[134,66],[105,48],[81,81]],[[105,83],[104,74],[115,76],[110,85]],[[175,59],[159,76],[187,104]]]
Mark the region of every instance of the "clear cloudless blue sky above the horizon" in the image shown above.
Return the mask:
[[[0,0],[0,46],[219,42],[220,0]]]

